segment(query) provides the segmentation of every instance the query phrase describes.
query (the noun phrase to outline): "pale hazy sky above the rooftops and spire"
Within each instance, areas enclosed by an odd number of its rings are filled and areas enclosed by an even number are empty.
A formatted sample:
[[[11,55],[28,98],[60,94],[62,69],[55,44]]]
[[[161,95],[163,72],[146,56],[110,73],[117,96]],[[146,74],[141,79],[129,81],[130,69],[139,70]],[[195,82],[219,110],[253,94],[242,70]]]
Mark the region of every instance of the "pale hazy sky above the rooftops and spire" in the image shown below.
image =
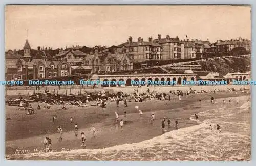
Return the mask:
[[[250,39],[249,6],[6,6],[6,50],[118,45],[129,36]]]

